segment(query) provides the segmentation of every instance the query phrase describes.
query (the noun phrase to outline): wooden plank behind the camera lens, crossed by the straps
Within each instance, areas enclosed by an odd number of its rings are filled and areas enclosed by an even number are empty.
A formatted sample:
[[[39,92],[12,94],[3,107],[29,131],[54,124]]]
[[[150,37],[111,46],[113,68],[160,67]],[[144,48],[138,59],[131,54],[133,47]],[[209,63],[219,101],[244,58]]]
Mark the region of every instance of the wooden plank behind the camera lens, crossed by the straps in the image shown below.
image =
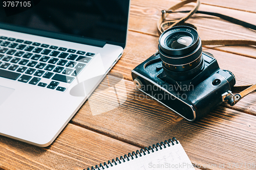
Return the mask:
[[[131,8],[131,17],[129,29],[131,31],[141,32],[144,34],[150,34],[158,36],[157,34],[157,20],[161,16],[161,10],[168,9],[170,6],[178,3],[179,1],[165,1],[160,0],[157,3],[153,1],[136,1],[132,2]],[[187,5],[181,10],[191,9],[191,5]],[[256,25],[256,21],[253,18],[256,18],[255,13],[248,13],[244,11],[237,11],[232,9],[226,9],[221,7],[214,7],[209,5],[201,5],[199,10],[209,11],[209,12],[218,12],[224,15],[232,16],[243,21],[247,21]],[[169,18],[178,19],[184,16],[181,13],[170,14]],[[197,26],[199,35],[202,40],[212,40],[212,39],[250,39],[255,40],[256,33],[255,31],[249,30],[247,28],[235,25],[231,22],[224,21],[218,17],[213,17],[209,15],[194,14],[188,20],[189,23],[193,23]],[[219,49],[219,47],[216,47]],[[250,50],[248,50],[250,49]],[[230,47],[221,47],[220,50],[243,54],[249,57],[256,57],[255,47],[249,48],[230,48]]]

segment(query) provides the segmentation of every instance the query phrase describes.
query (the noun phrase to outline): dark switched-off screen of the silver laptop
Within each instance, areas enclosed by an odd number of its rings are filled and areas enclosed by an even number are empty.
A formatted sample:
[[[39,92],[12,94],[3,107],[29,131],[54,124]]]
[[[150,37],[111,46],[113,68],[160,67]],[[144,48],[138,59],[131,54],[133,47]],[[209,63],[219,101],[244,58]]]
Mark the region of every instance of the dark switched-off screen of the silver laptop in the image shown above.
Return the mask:
[[[97,46],[104,45],[97,40],[125,45],[129,0],[3,0],[1,3],[2,29]]]

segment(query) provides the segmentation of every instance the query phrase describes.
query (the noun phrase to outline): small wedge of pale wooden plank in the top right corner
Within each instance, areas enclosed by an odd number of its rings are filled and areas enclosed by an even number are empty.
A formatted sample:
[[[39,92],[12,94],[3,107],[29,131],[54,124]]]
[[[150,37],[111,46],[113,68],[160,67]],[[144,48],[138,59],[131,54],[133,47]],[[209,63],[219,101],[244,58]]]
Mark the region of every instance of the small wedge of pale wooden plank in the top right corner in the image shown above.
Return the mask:
[[[207,5],[212,5],[212,6],[218,6],[218,7],[224,7],[224,8],[229,8],[229,9],[236,9],[236,10],[242,10],[246,12],[252,12],[256,13],[255,10],[255,1],[253,0],[243,0],[243,1],[221,1],[221,0],[216,0],[216,1],[211,1],[211,0],[201,0],[202,4],[207,4]]]

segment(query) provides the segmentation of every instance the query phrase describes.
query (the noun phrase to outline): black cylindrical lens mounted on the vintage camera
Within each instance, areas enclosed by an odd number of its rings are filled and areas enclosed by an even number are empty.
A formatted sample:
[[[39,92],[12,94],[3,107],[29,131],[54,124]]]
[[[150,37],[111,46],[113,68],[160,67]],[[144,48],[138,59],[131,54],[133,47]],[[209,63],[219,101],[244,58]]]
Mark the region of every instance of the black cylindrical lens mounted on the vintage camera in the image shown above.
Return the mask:
[[[178,26],[159,37],[159,54],[166,74],[175,80],[195,77],[203,68],[201,39],[195,29]]]

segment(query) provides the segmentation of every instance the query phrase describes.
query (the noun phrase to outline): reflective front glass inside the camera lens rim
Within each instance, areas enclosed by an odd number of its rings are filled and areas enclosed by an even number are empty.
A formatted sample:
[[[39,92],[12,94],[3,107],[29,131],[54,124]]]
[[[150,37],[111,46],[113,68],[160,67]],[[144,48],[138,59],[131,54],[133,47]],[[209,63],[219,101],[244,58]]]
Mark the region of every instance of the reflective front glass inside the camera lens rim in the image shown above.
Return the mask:
[[[187,36],[185,34],[178,34],[168,37],[166,40],[166,45],[169,48],[180,49],[189,46],[192,41],[193,39],[190,36]]]

